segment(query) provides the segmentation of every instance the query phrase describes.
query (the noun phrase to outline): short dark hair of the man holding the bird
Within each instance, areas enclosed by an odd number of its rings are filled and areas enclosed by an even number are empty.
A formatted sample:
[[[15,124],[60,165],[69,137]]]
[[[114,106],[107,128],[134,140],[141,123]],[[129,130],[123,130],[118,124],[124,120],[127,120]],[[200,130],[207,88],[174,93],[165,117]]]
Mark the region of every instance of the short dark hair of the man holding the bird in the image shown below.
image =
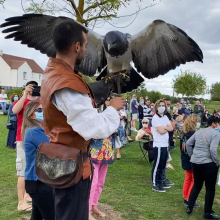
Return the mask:
[[[82,45],[84,42],[82,32],[87,34],[88,30],[75,21],[67,20],[58,24],[53,31],[53,43],[56,52],[65,54],[70,45],[77,42]]]

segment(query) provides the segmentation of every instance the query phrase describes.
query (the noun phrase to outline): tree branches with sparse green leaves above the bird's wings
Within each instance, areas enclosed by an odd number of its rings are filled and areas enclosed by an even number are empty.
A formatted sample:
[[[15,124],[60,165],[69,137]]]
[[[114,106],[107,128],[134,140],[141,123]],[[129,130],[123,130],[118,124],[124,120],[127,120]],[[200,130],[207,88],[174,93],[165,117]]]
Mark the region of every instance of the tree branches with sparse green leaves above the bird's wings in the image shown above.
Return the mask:
[[[116,18],[119,8],[127,6],[131,1],[132,0],[62,0],[58,2],[57,0],[21,0],[21,4],[25,13],[54,14],[56,12],[66,12],[85,26],[94,27],[98,19],[108,22],[108,20]],[[147,7],[154,5],[155,4],[152,4]],[[139,10],[132,15],[137,15],[138,12],[143,9],[139,8]]]

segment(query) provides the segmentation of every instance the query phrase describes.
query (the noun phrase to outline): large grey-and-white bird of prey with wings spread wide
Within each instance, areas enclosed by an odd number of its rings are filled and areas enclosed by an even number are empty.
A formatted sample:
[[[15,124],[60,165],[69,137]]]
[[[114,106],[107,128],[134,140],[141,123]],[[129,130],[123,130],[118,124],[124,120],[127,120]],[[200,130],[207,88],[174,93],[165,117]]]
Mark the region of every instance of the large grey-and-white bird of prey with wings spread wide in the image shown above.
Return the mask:
[[[0,27],[9,26],[3,30],[3,33],[10,33],[5,38],[14,38],[49,57],[55,57],[53,30],[67,19],[70,18],[25,14],[7,18]],[[152,79],[180,64],[202,62],[203,59],[202,51],[193,39],[178,27],[162,20],[153,21],[133,36],[119,31],[110,31],[101,36],[89,30],[87,38],[86,55],[76,69],[87,76],[101,72],[97,78],[99,81],[91,84],[91,87],[95,97],[99,95],[104,99],[108,94],[102,94],[100,86],[106,87],[106,91],[118,93],[131,91],[144,81],[138,72]],[[137,71],[132,68],[131,61]]]

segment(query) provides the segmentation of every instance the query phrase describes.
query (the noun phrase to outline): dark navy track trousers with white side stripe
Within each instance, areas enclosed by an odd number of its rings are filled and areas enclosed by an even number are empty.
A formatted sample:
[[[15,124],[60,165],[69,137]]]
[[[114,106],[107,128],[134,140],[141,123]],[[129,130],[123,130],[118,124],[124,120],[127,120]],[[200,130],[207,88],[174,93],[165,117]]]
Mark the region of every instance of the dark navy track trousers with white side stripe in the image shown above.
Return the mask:
[[[166,181],[167,147],[154,147],[154,165],[152,168],[153,185],[157,186]]]

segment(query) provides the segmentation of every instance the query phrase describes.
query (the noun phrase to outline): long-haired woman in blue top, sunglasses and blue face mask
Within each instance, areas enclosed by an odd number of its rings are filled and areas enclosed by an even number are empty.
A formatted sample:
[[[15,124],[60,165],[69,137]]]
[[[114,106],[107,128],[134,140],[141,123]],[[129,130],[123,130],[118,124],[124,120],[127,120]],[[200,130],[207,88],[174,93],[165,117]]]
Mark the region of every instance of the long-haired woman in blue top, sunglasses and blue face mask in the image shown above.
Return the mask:
[[[32,198],[31,219],[55,219],[53,188],[40,181],[36,174],[37,148],[49,142],[42,126],[43,110],[38,101],[30,101],[24,111],[22,140],[25,152],[25,190]]]

